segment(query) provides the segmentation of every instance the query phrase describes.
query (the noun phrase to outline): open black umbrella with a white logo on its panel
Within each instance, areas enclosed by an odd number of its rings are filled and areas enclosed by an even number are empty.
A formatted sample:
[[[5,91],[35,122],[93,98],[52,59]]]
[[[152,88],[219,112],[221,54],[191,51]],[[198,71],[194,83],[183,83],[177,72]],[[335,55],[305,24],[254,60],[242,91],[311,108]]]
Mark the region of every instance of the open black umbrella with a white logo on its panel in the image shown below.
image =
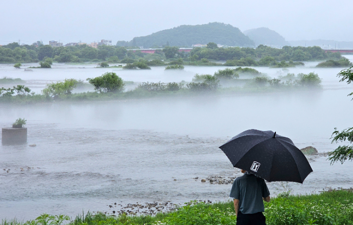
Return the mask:
[[[266,181],[303,183],[313,172],[304,154],[287,137],[271,130],[246,130],[219,147],[234,167]]]

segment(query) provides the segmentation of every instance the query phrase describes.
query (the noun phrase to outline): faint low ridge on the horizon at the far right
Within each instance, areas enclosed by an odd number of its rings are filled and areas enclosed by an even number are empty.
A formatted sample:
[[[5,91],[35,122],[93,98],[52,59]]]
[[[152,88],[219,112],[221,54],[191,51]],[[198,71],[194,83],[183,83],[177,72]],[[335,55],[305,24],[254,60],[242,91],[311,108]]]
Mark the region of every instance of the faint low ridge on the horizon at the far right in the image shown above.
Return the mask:
[[[335,41],[335,40],[300,40],[300,41],[289,41],[291,46],[319,46],[324,49],[353,49],[353,41]]]

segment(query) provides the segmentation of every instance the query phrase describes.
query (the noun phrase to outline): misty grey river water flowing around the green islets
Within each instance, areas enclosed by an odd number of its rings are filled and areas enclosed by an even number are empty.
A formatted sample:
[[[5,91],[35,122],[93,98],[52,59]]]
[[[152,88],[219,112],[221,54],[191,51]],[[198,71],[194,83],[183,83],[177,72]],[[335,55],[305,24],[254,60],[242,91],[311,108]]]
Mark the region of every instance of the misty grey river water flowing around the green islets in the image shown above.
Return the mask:
[[[331,151],[338,146],[330,140],[334,127],[353,126],[353,102],[347,97],[353,85],[338,82],[340,69],[318,69],[316,64],[285,72],[256,69],[270,77],[314,71],[323,78],[319,92],[0,105],[0,126],[25,117],[28,144],[36,144],[0,146],[0,219],[29,220],[42,213],[74,217],[88,210],[111,214],[114,203],[226,201],[231,184],[200,180],[241,175],[218,147],[246,129],[273,130],[299,148]],[[40,92],[46,82],[86,80],[107,71],[127,81],[179,82],[224,68],[186,66],[169,73],[163,67],[125,71],[94,66],[57,64],[24,72],[0,65],[0,77],[27,80]],[[298,194],[352,187],[353,162],[330,166],[326,159],[324,154],[310,156],[314,172],[288,188]],[[268,183],[271,195],[284,191],[283,185]]]

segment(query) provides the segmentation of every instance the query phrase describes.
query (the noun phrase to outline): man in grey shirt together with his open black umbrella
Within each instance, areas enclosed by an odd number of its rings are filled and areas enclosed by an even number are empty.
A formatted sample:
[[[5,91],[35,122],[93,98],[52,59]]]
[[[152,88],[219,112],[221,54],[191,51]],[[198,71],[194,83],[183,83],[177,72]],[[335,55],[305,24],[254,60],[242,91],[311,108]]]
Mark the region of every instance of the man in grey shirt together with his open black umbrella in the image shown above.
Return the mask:
[[[271,130],[246,130],[220,148],[233,167],[245,173],[234,181],[230,194],[237,225],[265,225],[263,200],[270,200],[265,180],[302,184],[313,171],[291,139]]]

